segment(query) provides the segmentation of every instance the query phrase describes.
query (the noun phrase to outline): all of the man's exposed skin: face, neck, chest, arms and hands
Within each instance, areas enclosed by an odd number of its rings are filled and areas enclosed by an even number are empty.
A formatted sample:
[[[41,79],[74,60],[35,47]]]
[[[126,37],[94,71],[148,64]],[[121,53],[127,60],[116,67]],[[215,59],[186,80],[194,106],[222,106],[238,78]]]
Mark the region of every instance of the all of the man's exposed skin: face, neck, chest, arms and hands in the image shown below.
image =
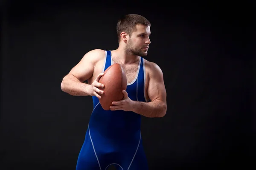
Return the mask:
[[[124,68],[127,82],[131,82],[137,73],[139,56],[146,57],[150,45],[149,26],[137,25],[136,30],[128,35],[125,32],[120,34],[119,47],[111,51],[113,62],[119,63]],[[104,91],[99,90],[99,78],[103,75],[105,51],[95,49],[87,52],[80,62],[74,66],[61,82],[61,90],[74,96],[97,96]],[[124,98],[121,101],[113,102],[112,111],[124,110],[133,111],[146,117],[163,117],[166,115],[166,88],[163,80],[163,72],[160,67],[145,59],[145,94],[150,102],[132,101],[129,94],[123,91]],[[84,81],[87,80],[87,83]]]

